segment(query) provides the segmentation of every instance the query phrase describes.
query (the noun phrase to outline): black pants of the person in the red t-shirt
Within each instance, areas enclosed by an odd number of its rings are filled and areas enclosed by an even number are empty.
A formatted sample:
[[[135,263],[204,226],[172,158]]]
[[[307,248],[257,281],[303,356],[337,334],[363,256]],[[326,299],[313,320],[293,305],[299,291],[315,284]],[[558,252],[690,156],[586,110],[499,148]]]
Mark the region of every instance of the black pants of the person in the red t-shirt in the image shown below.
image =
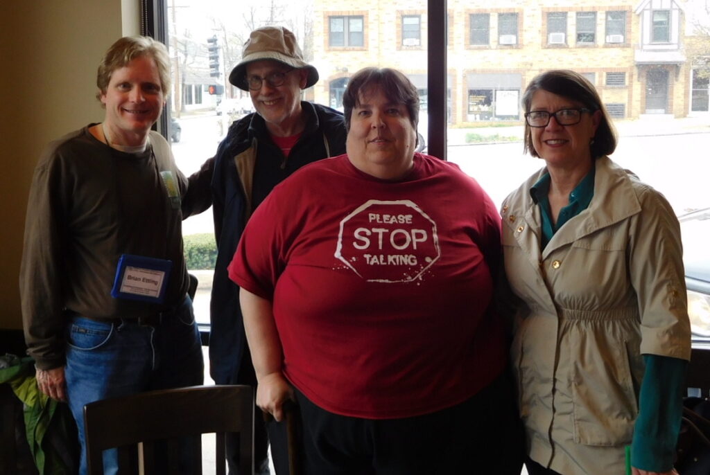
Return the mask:
[[[296,396],[307,475],[520,475],[523,466],[507,374],[464,403],[412,418],[351,418]]]

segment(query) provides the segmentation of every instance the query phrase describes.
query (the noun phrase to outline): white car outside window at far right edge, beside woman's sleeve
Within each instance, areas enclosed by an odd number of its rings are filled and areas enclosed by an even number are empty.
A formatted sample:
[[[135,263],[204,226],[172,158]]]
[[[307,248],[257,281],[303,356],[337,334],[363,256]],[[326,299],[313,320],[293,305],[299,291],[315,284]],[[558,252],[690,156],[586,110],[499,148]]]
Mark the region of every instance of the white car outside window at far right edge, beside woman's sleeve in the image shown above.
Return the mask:
[[[683,240],[688,315],[694,340],[710,342],[710,208],[678,217]]]

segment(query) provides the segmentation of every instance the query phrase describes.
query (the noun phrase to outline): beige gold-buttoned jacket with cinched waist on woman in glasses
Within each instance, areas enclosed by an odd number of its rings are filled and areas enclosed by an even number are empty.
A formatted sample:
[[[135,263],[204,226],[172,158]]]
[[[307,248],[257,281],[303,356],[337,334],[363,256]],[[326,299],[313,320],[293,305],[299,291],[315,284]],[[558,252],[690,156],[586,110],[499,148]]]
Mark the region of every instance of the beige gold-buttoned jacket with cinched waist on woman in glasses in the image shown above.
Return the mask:
[[[589,208],[541,251],[530,188],[544,173],[501,208],[506,275],[522,300],[512,362],[529,454],[564,475],[622,475],[640,355],[690,357],[678,221],[661,194],[601,157]]]

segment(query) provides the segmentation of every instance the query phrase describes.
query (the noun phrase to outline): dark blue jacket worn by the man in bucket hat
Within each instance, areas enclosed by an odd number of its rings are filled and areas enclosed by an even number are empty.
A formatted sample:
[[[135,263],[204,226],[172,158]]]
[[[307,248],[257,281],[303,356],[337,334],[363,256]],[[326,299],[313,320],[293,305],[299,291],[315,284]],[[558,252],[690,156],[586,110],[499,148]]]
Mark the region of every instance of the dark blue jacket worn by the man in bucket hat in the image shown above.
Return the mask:
[[[345,153],[346,131],[342,113],[310,102],[301,102],[301,107],[306,114],[306,128],[288,159],[273,143],[266,123],[256,113],[233,123],[217,148],[212,174],[217,265],[209,309],[212,323],[210,374],[217,384],[246,383],[253,378],[239,308],[239,286],[229,280],[226,267],[251,215],[251,184],[256,162],[280,160],[286,174],[290,174],[302,164]]]

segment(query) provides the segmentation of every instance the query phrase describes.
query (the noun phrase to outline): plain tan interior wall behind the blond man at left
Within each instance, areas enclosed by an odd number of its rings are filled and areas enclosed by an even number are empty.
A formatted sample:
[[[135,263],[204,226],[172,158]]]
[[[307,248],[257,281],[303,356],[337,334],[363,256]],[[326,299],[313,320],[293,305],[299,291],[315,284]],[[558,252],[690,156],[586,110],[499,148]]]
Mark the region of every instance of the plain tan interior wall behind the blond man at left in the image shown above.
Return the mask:
[[[97,65],[111,43],[138,28],[138,0],[0,2],[0,330],[22,328],[18,273],[40,152],[102,121]]]

